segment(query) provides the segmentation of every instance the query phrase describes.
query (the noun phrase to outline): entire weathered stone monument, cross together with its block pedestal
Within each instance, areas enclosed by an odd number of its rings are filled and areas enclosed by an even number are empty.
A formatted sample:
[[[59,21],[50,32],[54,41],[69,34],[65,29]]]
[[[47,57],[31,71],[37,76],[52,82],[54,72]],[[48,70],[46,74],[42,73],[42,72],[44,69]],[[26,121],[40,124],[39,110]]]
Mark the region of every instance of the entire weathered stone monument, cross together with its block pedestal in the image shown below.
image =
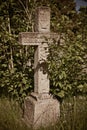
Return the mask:
[[[54,124],[60,116],[60,104],[49,94],[47,74],[47,39],[58,39],[58,34],[50,33],[50,8],[39,7],[36,10],[35,32],[21,32],[19,42],[22,45],[36,46],[34,54],[34,92],[25,99],[24,120],[28,126],[37,128]]]

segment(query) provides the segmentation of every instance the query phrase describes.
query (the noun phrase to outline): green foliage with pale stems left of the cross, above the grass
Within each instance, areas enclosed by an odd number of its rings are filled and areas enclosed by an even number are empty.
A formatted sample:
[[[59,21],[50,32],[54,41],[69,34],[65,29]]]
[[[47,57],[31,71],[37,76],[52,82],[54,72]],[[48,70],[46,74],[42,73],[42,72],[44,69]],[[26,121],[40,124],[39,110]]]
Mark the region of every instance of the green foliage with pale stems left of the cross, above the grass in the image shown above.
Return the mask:
[[[34,49],[18,43],[18,33],[31,30],[32,20],[25,9],[20,1],[0,2],[0,95],[17,100],[22,100],[33,86]]]

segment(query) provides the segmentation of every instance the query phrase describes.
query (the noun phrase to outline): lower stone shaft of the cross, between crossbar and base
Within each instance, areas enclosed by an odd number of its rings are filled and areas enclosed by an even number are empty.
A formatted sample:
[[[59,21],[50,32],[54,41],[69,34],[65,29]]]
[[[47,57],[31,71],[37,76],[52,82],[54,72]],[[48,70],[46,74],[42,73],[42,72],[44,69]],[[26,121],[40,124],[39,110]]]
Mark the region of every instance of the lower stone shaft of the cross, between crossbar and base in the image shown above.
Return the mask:
[[[36,93],[49,93],[49,77],[47,74],[46,66],[46,50],[45,46],[41,45],[36,48],[34,56],[34,92]]]

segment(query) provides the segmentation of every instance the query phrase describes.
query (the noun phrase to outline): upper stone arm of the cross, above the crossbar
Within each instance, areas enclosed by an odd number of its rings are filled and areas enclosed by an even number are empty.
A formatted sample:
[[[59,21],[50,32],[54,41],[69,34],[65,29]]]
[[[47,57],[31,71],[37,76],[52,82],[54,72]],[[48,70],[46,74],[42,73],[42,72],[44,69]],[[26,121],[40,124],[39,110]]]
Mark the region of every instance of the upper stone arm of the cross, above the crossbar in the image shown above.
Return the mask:
[[[35,19],[35,31],[45,33],[50,32],[50,8],[37,8]]]

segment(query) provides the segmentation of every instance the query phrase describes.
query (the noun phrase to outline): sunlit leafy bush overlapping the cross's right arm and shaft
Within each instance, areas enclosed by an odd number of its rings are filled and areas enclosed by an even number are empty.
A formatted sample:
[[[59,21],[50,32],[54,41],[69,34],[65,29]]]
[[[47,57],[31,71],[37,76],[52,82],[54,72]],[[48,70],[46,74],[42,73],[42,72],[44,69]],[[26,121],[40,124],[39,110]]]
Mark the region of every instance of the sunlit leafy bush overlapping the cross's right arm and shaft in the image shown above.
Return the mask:
[[[64,36],[49,44],[48,72],[51,92],[58,98],[87,93],[87,41]],[[61,43],[62,41],[62,43]]]

